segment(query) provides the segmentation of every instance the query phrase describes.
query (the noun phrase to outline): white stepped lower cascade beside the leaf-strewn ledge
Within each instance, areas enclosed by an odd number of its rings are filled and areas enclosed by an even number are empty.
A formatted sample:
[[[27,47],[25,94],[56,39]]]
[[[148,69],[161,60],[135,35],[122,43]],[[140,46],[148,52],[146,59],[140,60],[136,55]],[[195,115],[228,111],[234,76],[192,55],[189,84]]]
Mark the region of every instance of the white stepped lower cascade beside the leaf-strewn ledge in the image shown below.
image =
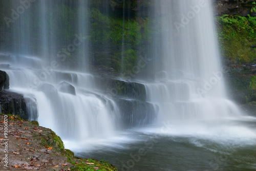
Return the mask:
[[[10,91],[36,99],[38,118],[31,114],[30,119],[38,120],[41,126],[51,128],[65,139],[82,141],[113,134],[119,120],[118,108],[103,94],[92,92],[92,75],[42,70],[44,62],[36,57],[6,55],[5,58],[2,56],[2,64],[10,64],[4,69],[10,77]],[[60,90],[59,83],[63,81],[75,87],[76,95]]]

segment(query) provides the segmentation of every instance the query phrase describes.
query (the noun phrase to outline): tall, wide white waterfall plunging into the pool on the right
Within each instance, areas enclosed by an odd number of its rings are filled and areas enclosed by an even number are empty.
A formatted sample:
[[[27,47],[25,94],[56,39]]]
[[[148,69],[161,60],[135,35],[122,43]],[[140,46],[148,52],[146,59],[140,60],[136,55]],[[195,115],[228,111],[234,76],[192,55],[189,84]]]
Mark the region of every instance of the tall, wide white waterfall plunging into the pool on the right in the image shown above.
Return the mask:
[[[159,105],[158,121],[239,116],[226,98],[210,1],[155,1],[153,82],[147,100]]]

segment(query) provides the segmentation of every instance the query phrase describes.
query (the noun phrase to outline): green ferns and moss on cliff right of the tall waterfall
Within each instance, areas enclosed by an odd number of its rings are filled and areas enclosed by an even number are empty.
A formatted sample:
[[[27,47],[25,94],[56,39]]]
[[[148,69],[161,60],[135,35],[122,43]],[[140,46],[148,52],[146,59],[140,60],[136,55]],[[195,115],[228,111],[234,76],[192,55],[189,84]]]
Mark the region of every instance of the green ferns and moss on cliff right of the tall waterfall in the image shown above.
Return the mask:
[[[216,17],[219,24],[218,38],[220,49],[234,63],[245,63],[256,60],[256,17],[248,15],[223,15]]]

